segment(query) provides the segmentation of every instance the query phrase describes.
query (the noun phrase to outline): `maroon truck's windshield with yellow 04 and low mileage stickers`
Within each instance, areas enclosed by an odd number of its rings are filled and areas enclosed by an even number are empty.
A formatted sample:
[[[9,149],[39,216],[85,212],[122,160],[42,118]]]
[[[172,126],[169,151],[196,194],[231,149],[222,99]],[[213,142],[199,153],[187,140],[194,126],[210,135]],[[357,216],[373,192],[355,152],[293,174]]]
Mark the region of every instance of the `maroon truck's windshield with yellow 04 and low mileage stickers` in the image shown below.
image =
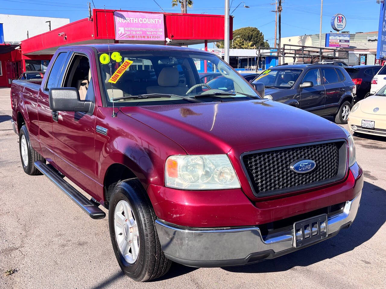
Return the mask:
[[[191,103],[198,98],[200,102],[260,98],[243,77],[207,52],[110,51],[100,53],[98,60],[108,106],[112,102],[139,106]],[[212,87],[205,77],[200,79],[203,72],[219,73],[229,85]]]

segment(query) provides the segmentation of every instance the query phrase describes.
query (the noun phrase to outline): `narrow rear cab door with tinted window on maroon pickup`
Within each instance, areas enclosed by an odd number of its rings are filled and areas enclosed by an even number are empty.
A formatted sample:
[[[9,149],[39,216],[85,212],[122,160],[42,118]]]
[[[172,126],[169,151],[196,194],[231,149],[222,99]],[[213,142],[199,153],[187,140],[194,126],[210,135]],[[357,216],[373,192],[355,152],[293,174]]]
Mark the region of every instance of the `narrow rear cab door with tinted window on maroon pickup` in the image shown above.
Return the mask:
[[[37,114],[39,119],[39,140],[42,156],[52,165],[55,164],[53,134],[52,134],[52,111],[49,108],[48,91],[52,87],[57,87],[59,76],[65,67],[68,51],[59,52],[53,61],[48,77],[44,79],[39,91],[37,101]]]

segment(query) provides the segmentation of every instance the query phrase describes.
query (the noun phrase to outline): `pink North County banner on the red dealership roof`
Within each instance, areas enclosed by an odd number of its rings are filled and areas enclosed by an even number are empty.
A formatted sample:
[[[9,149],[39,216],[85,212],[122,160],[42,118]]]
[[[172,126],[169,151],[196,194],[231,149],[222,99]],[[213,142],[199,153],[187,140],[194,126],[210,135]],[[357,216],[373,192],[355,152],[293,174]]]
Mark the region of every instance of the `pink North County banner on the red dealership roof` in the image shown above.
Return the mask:
[[[162,13],[114,12],[116,40],[165,40]]]

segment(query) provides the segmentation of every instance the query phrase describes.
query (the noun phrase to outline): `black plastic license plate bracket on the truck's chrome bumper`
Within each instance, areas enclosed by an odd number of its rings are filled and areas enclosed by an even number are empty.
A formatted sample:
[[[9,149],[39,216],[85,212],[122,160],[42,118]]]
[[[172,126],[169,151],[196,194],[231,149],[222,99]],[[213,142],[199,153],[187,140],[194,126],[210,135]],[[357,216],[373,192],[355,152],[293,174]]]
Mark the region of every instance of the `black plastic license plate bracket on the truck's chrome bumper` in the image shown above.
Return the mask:
[[[327,214],[308,218],[293,224],[293,247],[299,248],[327,237]]]

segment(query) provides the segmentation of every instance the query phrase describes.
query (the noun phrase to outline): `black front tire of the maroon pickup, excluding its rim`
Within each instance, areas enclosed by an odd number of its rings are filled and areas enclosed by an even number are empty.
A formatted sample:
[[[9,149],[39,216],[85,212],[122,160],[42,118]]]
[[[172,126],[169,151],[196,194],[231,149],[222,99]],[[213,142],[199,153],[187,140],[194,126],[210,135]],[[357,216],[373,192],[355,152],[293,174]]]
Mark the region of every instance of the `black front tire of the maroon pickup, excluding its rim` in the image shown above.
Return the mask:
[[[130,264],[122,255],[115,236],[114,214],[118,202],[129,203],[139,233],[139,254]],[[159,278],[169,271],[171,260],[161,249],[155,226],[156,215],[147,193],[138,179],[120,181],[115,186],[108,208],[108,226],[112,247],[122,271],[131,279],[139,282]]]

